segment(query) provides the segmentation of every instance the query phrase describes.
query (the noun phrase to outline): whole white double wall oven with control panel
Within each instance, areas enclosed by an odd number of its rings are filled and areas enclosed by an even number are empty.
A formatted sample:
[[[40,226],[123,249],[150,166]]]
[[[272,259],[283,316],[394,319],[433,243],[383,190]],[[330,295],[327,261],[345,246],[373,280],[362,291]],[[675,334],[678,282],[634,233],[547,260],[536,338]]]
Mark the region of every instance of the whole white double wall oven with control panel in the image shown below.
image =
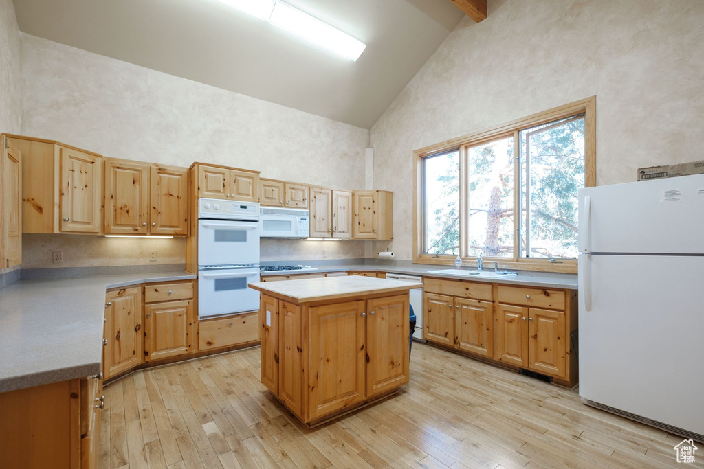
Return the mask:
[[[259,309],[259,204],[200,198],[198,309],[208,319]]]

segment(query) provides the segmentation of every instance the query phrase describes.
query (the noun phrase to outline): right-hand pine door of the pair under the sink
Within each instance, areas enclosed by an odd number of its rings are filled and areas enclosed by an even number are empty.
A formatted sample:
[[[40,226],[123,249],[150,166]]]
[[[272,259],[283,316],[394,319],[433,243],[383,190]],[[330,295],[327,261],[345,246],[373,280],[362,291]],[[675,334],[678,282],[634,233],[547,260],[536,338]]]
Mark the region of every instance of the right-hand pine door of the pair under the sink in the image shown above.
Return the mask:
[[[455,298],[455,347],[491,358],[493,313],[494,303]]]

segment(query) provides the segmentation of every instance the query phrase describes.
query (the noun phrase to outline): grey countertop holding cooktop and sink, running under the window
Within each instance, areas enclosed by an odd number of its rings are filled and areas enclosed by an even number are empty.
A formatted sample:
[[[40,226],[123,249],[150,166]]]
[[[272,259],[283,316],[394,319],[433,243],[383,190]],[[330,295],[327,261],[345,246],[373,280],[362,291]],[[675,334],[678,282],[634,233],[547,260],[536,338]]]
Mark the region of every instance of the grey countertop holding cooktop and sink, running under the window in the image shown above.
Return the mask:
[[[280,263],[279,264],[284,264]],[[290,263],[289,263],[290,264]],[[441,269],[451,269],[451,266],[428,265],[428,264],[315,264],[309,263],[318,270],[314,271],[263,271],[262,277],[297,274],[323,274],[325,272],[338,271],[373,271],[386,272],[386,274],[404,274],[422,277],[448,278],[452,280],[467,280],[472,282],[502,283],[505,285],[524,285],[541,288],[565,288],[566,290],[577,290],[577,274],[552,274],[550,272],[518,271],[518,275],[506,278],[481,278],[467,277],[452,274],[432,274],[431,271]],[[469,270],[465,267],[463,270]],[[485,269],[491,270],[491,269]]]

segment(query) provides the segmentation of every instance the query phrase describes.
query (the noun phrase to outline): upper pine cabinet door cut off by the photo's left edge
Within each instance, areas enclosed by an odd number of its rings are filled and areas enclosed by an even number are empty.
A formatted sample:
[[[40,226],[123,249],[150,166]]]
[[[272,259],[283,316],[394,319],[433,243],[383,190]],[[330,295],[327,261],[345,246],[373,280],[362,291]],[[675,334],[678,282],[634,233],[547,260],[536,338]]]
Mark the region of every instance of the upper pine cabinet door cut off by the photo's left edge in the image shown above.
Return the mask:
[[[0,269],[22,264],[22,158],[6,137],[0,162]],[[4,226],[4,228],[2,228]]]

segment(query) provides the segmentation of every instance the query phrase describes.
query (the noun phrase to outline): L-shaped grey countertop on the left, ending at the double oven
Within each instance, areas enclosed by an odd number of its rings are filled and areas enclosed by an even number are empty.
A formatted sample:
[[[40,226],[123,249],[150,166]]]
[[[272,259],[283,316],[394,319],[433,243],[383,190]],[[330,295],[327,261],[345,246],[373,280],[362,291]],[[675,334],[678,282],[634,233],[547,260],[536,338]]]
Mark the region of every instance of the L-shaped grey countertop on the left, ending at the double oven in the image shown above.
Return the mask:
[[[100,373],[106,290],[194,278],[187,272],[130,274],[1,288],[0,392]]]

